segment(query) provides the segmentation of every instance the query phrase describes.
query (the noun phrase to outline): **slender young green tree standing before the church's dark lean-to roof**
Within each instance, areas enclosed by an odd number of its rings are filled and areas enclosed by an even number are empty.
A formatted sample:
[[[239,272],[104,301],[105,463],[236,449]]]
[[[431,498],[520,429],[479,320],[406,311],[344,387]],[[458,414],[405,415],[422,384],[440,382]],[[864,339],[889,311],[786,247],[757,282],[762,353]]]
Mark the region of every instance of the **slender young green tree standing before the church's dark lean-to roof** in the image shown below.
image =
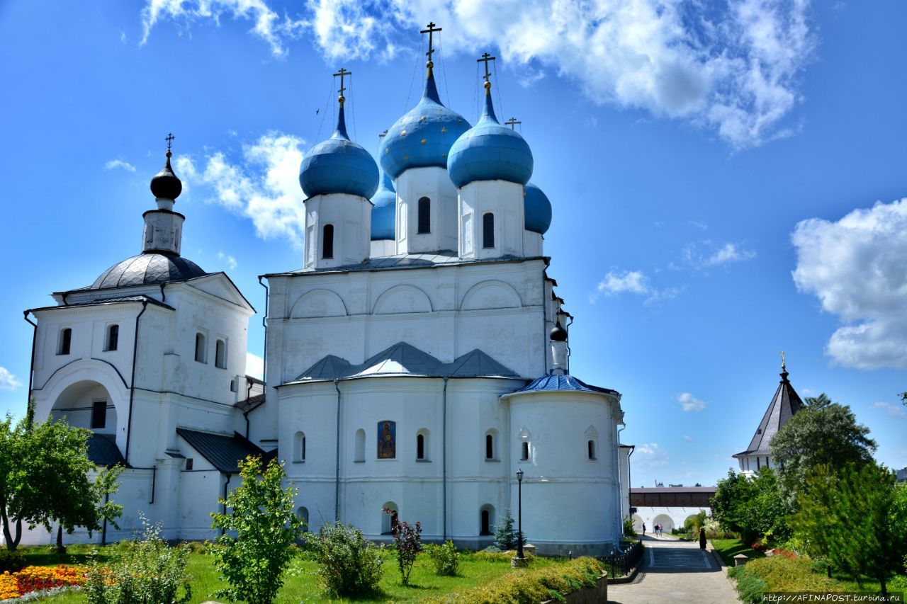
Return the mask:
[[[214,564],[230,584],[217,595],[269,604],[283,585],[293,542],[304,525],[293,511],[297,489],[283,488],[285,473],[277,460],[263,468],[258,457],[250,456],[239,463],[239,475],[239,487],[226,501],[219,500],[228,513],[211,513],[211,528],[225,531],[213,550]]]

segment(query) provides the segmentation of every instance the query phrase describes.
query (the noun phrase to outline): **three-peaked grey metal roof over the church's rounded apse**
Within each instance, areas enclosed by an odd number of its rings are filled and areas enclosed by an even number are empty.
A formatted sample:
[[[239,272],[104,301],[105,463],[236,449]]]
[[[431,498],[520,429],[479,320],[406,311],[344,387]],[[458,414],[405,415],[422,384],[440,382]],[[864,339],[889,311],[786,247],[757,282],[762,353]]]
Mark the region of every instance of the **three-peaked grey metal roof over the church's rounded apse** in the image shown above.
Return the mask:
[[[302,372],[296,381],[334,380],[368,375],[426,375],[432,377],[519,377],[479,349],[458,356],[453,363],[442,363],[415,346],[398,342],[360,365],[339,356],[328,355]]]

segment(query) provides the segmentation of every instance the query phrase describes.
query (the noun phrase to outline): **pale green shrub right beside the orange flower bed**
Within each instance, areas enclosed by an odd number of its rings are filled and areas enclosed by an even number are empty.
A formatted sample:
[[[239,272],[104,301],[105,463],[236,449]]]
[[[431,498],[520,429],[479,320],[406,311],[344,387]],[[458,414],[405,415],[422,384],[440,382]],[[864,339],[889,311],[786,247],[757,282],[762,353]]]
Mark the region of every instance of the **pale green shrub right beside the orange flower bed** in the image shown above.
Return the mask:
[[[120,560],[103,567],[97,552],[92,556],[83,591],[88,604],[133,604],[168,602],[185,604],[192,597],[186,574],[189,547],[169,548],[161,539],[161,527],[141,519],[141,539],[122,546]],[[179,597],[182,588],[182,597]]]

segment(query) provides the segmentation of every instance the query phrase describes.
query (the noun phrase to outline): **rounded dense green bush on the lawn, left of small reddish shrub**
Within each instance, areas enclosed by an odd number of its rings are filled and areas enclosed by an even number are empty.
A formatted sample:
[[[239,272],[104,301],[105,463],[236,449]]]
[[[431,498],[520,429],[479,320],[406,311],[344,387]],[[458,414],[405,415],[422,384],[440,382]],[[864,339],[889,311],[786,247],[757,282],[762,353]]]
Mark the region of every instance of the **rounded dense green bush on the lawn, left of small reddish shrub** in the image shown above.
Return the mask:
[[[367,596],[384,569],[380,551],[352,524],[326,522],[310,541],[321,589],[335,598]]]

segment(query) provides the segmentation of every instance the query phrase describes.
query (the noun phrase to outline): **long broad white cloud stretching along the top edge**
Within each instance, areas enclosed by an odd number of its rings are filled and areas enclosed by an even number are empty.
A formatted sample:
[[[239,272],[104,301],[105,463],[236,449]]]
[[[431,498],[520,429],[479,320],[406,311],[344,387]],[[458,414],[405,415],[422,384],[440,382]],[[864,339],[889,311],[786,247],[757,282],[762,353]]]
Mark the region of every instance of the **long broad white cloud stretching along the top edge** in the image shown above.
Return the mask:
[[[556,73],[592,102],[681,119],[735,149],[795,132],[785,118],[817,44],[809,0],[307,0],[305,15],[283,20],[266,0],[146,3],[142,44],[162,19],[229,15],[253,21],[275,56],[305,33],[330,61],[415,54],[434,21],[446,53],[496,48],[522,85]]]

